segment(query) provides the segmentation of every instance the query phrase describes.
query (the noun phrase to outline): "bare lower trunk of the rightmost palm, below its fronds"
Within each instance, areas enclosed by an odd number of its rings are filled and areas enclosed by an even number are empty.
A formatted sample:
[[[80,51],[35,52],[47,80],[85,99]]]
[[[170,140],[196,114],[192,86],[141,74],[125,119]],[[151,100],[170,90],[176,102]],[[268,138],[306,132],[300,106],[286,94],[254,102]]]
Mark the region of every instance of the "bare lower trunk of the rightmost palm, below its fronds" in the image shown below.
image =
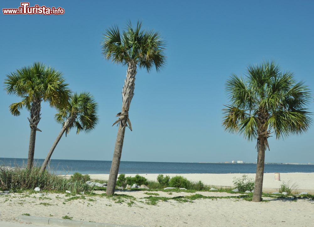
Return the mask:
[[[264,139],[262,139],[258,147],[255,185],[254,185],[254,193],[253,193],[253,198],[252,198],[253,202],[262,201],[264,162],[265,162],[265,143],[264,143]]]

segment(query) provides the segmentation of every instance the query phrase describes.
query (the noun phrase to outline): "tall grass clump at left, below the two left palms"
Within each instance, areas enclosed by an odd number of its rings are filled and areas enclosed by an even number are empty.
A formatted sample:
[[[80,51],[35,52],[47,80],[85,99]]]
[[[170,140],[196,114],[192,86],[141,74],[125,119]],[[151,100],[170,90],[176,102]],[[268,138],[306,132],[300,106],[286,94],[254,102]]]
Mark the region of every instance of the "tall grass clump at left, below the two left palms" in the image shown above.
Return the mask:
[[[93,187],[74,178],[66,179],[49,171],[40,172],[39,167],[32,169],[0,167],[0,189],[2,190],[34,190],[41,191],[71,191],[72,193],[90,192]]]

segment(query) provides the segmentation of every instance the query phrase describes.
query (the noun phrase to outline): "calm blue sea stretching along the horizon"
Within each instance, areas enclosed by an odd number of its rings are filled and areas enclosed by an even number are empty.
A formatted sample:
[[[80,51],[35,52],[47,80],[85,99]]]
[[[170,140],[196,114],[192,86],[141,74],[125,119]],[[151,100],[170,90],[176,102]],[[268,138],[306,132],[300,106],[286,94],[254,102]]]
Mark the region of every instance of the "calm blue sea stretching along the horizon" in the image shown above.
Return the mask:
[[[43,159],[36,159],[41,166]],[[24,166],[27,159],[0,158],[0,166]],[[58,174],[80,172],[82,174],[108,174],[111,161],[51,159],[50,168]],[[266,172],[314,172],[314,165],[266,164]],[[186,163],[121,161],[119,173],[255,173],[256,164]]]

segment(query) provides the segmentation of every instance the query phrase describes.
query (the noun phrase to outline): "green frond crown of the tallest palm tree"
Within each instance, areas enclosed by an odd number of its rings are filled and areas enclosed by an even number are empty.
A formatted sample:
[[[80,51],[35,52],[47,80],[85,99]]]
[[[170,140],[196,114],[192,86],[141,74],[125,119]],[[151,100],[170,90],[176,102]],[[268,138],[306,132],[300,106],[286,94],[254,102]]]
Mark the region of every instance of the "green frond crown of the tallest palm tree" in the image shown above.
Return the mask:
[[[102,42],[102,53],[107,60],[127,65],[134,61],[140,68],[150,71],[153,66],[159,71],[165,64],[165,42],[158,32],[141,30],[142,22],[136,28],[131,22],[120,33],[117,26],[106,30]]]

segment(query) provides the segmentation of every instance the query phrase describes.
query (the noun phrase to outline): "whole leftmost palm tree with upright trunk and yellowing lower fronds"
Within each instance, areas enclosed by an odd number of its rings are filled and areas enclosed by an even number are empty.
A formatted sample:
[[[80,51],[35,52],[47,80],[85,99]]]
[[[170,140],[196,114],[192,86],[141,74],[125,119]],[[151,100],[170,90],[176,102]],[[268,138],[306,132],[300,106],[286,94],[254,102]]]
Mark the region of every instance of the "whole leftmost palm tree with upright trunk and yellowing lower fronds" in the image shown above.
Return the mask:
[[[22,98],[18,103],[12,103],[11,114],[19,116],[25,107],[30,111],[30,144],[28,150],[27,168],[31,169],[34,161],[36,131],[41,119],[41,102],[48,102],[51,107],[65,104],[70,90],[67,88],[62,73],[50,66],[35,62],[32,66],[24,66],[7,75],[4,90]]]

